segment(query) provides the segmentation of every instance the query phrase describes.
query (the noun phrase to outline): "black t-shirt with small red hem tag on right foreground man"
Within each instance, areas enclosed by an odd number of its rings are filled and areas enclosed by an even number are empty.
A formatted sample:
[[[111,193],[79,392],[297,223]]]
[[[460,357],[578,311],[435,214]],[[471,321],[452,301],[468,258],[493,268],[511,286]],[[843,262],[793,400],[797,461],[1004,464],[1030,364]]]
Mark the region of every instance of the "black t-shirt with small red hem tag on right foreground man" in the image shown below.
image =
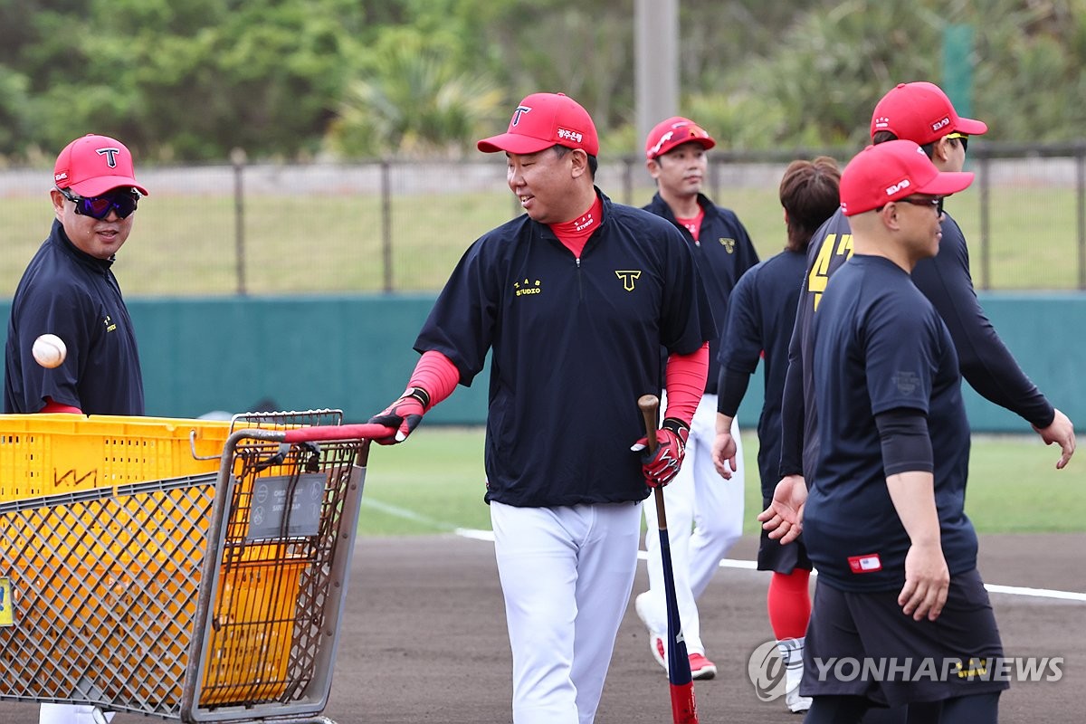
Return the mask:
[[[886,487],[875,425],[876,415],[900,409],[927,418],[950,574],[974,568],[976,533],[964,512],[969,421],[958,356],[931,302],[893,262],[854,256],[826,285],[811,333],[820,453],[804,541],[819,575],[845,590],[905,583],[909,536]]]

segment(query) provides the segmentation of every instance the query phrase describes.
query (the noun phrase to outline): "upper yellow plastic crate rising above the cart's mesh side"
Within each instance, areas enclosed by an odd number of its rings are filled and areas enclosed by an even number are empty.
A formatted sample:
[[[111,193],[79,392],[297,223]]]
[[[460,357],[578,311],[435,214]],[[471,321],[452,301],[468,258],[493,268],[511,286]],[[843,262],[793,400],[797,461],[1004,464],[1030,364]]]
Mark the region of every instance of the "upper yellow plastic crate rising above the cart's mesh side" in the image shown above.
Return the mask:
[[[0,501],[216,472],[229,434],[224,420],[0,415]]]

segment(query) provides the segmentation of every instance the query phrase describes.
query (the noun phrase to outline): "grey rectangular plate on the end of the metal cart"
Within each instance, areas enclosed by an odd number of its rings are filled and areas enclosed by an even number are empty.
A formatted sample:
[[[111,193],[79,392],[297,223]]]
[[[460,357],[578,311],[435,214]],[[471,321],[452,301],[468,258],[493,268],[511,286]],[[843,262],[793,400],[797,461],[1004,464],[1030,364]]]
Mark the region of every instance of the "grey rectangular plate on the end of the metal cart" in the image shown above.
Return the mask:
[[[269,475],[253,482],[247,541],[316,535],[325,498],[324,473],[302,473],[290,495],[290,475]]]

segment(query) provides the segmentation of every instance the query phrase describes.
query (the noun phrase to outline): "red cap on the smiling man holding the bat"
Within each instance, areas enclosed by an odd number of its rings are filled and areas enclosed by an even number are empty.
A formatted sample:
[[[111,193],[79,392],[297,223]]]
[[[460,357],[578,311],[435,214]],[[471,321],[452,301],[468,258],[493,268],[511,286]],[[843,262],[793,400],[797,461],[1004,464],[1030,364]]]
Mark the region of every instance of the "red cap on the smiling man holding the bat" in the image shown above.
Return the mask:
[[[555,144],[599,155],[599,137],[592,116],[565,93],[526,97],[513,112],[508,130],[476,145],[483,153],[539,153]]]

